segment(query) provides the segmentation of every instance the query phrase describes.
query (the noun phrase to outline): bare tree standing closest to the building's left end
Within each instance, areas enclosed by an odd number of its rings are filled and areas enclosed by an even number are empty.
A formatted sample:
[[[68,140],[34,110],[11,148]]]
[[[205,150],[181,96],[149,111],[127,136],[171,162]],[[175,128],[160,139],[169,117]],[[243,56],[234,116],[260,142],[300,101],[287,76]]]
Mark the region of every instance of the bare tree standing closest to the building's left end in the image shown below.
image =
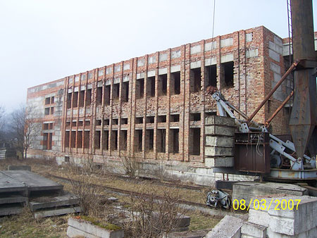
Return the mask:
[[[27,150],[34,144],[42,127],[37,122],[37,114],[34,108],[21,105],[11,113],[11,130],[14,133],[15,147],[21,152],[22,158],[27,157]]]

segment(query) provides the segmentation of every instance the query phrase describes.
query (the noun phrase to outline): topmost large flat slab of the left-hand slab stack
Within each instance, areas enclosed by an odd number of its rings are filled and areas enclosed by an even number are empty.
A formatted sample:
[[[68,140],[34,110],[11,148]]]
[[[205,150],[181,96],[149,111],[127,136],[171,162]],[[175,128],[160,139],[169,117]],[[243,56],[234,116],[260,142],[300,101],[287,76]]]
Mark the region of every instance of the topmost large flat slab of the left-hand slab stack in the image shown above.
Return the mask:
[[[1,171],[2,174],[13,178],[13,180],[24,183],[28,191],[61,190],[63,185],[52,180],[46,179],[41,175],[26,170]],[[1,187],[0,187],[1,191]]]

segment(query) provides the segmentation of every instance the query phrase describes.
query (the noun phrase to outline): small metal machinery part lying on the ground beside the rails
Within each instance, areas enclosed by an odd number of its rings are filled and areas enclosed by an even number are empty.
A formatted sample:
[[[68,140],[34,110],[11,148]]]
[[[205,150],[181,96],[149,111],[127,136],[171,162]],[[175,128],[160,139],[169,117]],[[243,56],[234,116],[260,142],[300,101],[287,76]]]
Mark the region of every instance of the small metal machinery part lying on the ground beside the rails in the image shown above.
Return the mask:
[[[207,194],[206,205],[218,208],[219,206],[230,209],[231,198],[230,195],[221,190],[212,190]]]

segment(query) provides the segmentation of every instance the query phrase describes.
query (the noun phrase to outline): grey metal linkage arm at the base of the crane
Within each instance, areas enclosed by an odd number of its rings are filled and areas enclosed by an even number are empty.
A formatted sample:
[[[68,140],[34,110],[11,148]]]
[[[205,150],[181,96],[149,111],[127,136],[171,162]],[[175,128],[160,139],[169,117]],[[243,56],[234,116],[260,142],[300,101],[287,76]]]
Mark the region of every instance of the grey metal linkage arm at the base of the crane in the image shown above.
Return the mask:
[[[239,132],[242,133],[251,133],[251,132],[267,132],[268,130],[264,125],[259,125],[258,123],[254,122],[253,120],[248,122],[248,117],[241,111],[239,111],[235,106],[230,104],[229,101],[225,100],[225,97],[220,92],[215,92],[213,94],[213,99],[216,100],[218,111],[221,116],[227,116],[229,115],[230,118],[235,119],[235,124],[237,125],[237,128]],[[240,120],[235,117],[235,114],[232,113],[231,110],[236,111],[240,115],[242,115],[242,118],[246,118],[246,120]],[[307,169],[316,169],[316,160],[315,157],[309,157],[305,154],[302,157],[296,157],[294,156],[296,150],[295,146],[292,142],[287,140],[286,142],[283,142],[281,139],[278,139],[278,137],[275,137],[273,134],[269,134],[270,139],[270,147],[272,149],[271,151],[271,159],[272,165],[275,168],[280,168],[280,165],[282,165],[282,161],[289,161],[288,168],[289,170],[300,170],[299,175],[296,175],[299,179],[304,179],[306,175],[302,173],[304,171],[304,165]],[[252,134],[251,134],[252,135]],[[261,137],[258,138],[261,140]],[[285,163],[283,163],[285,165]],[[271,166],[272,167],[272,166]],[[316,177],[316,170],[313,171]],[[285,173],[283,173],[285,175]],[[276,173],[273,173],[272,176],[276,176]],[[311,175],[309,176],[311,177]]]

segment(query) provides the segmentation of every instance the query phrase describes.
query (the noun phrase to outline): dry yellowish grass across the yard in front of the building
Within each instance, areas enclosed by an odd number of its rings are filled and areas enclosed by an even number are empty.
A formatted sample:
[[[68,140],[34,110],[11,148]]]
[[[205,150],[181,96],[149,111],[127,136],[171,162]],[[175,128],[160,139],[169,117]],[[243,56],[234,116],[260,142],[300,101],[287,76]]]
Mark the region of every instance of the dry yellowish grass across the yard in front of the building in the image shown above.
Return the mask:
[[[51,173],[53,175],[60,176],[60,177],[71,178],[73,180],[79,180],[82,182],[85,181],[86,184],[93,183],[93,184],[105,185],[108,187],[113,187],[118,189],[125,189],[131,192],[141,192],[143,194],[147,194],[147,196],[133,199],[132,196],[118,195],[116,194],[116,192],[105,192],[101,190],[100,191],[94,190],[93,194],[95,194],[96,196],[102,196],[102,197],[116,196],[119,199],[119,202],[115,204],[117,206],[120,204],[121,206],[123,206],[123,208],[127,209],[127,211],[131,209],[133,204],[135,208],[136,208],[135,205],[138,204],[139,206],[138,208],[140,208],[141,210],[143,209],[145,211],[146,210],[145,208],[147,208],[147,206],[149,205],[149,203],[146,203],[146,201],[151,201],[156,196],[166,196],[166,189],[170,189],[171,191],[173,190],[173,193],[177,194],[176,200],[170,199],[169,201],[178,201],[179,199],[182,199],[187,201],[205,203],[206,192],[207,192],[206,189],[192,190],[192,189],[182,189],[178,187],[170,188],[170,187],[164,186],[164,184],[156,184],[155,182],[151,182],[150,180],[130,180],[128,178],[111,176],[111,174],[107,174],[107,173],[97,174],[97,173],[94,173],[96,170],[92,168],[92,166],[89,166],[90,169],[77,170],[77,168],[76,169],[73,169],[73,168],[70,169],[66,167],[63,168],[61,166],[56,165],[54,161],[26,159],[24,161],[18,161],[18,160],[0,161],[0,170],[6,170],[8,165],[30,165],[32,167],[33,172],[39,173],[40,175],[44,175],[44,176],[47,176],[47,173]],[[52,178],[50,177],[50,179]],[[56,180],[56,182],[63,184],[64,189],[66,191],[74,192],[74,189],[76,189],[76,185],[70,182],[61,181],[54,178],[52,180]],[[84,187],[82,188],[77,187],[77,189],[85,190]],[[170,194],[168,196],[170,196]],[[173,196],[170,196],[170,197],[173,197]],[[140,199],[141,200],[143,199],[143,202],[140,202],[141,201]],[[158,209],[159,207],[157,206],[157,203],[154,204],[153,206],[156,206],[155,209],[153,207],[154,210],[159,211]],[[97,210],[88,214],[94,215],[99,218],[103,218],[104,220],[109,220],[111,223],[113,223],[113,220],[110,219],[111,215],[116,213],[116,211],[113,210],[113,206],[109,204],[105,204],[101,201],[101,203],[99,203],[99,206],[95,206],[95,207],[92,206],[92,208],[97,208],[97,207],[98,207]],[[91,208],[87,208],[87,210],[92,211]],[[213,218],[213,216],[206,215],[204,213],[188,212],[188,211],[185,211],[185,212],[186,212],[186,215],[189,215],[191,217],[191,225],[189,227],[189,230],[211,229],[219,221],[218,218]],[[9,218],[4,218],[4,220],[1,221],[2,227],[0,229],[0,237],[66,237],[68,215],[59,216],[55,218],[45,218],[42,220],[35,220],[34,218],[30,218],[30,216],[27,216],[27,213],[25,214],[26,216],[25,215],[11,216]],[[25,219],[29,219],[29,220],[25,220]],[[161,221],[163,223],[164,220],[161,219]],[[116,221],[115,221],[115,224],[116,224]],[[138,224],[138,221],[136,220],[133,226],[136,227],[137,224]],[[135,230],[135,231],[139,232],[139,230]],[[146,230],[144,234],[147,234],[147,232],[149,232],[149,230]],[[144,237],[147,237],[147,236],[144,235]]]

